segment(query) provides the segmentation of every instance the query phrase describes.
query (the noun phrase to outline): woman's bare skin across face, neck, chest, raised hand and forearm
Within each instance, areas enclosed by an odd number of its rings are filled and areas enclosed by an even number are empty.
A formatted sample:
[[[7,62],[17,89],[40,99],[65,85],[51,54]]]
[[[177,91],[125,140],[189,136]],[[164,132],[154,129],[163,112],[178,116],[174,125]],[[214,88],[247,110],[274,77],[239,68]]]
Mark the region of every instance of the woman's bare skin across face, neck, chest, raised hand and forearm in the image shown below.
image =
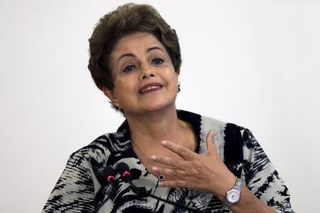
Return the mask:
[[[176,115],[179,70],[174,70],[164,45],[150,33],[132,33],[115,45],[111,60],[114,89],[103,88],[103,92],[124,110],[139,160],[154,176],[166,175],[159,185],[210,192],[224,201],[226,192],[235,184],[235,175],[219,157],[213,131],[206,138],[208,152],[194,152],[198,142],[192,126]],[[162,87],[141,93],[144,85],[154,82]],[[274,212],[245,186],[239,202],[230,209]]]

